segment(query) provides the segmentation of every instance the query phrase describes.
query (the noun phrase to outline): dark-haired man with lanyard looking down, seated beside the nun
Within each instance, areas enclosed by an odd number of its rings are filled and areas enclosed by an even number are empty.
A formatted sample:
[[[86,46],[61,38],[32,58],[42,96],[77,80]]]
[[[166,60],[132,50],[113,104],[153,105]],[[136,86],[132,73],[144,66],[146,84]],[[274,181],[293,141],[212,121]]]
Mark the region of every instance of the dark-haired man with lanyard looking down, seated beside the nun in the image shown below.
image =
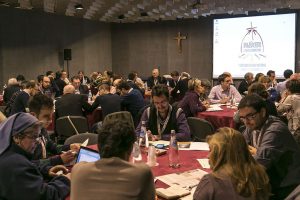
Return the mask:
[[[46,95],[36,94],[29,101],[30,114],[42,122],[41,135],[33,153],[33,160],[40,160],[41,163],[50,165],[67,164],[74,160],[74,153],[80,148],[80,144],[58,145],[50,139],[47,127],[52,123],[53,100]],[[62,151],[68,151],[62,153]],[[58,155],[59,156],[53,156]]]

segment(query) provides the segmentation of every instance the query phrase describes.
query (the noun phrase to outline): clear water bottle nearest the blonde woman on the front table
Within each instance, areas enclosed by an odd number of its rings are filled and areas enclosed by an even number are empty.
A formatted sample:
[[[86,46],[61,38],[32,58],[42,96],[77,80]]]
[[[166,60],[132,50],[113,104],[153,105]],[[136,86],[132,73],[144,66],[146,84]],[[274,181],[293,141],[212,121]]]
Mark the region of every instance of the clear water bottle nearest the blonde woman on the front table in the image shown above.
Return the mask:
[[[170,145],[169,145],[169,166],[172,168],[180,167],[178,144],[176,140],[175,130],[171,130],[171,138],[170,138]]]

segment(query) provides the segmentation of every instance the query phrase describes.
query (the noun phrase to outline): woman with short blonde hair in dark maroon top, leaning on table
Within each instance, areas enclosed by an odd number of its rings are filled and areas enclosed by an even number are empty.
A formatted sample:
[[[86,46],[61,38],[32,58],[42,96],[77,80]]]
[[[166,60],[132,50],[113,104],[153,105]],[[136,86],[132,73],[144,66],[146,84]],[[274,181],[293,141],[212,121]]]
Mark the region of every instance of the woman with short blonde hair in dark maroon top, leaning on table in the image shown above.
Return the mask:
[[[205,93],[205,88],[199,79],[189,80],[188,89],[189,91],[178,104],[178,107],[183,109],[186,118],[195,117],[198,112],[205,111],[209,107],[208,102],[200,101],[200,95]]]

